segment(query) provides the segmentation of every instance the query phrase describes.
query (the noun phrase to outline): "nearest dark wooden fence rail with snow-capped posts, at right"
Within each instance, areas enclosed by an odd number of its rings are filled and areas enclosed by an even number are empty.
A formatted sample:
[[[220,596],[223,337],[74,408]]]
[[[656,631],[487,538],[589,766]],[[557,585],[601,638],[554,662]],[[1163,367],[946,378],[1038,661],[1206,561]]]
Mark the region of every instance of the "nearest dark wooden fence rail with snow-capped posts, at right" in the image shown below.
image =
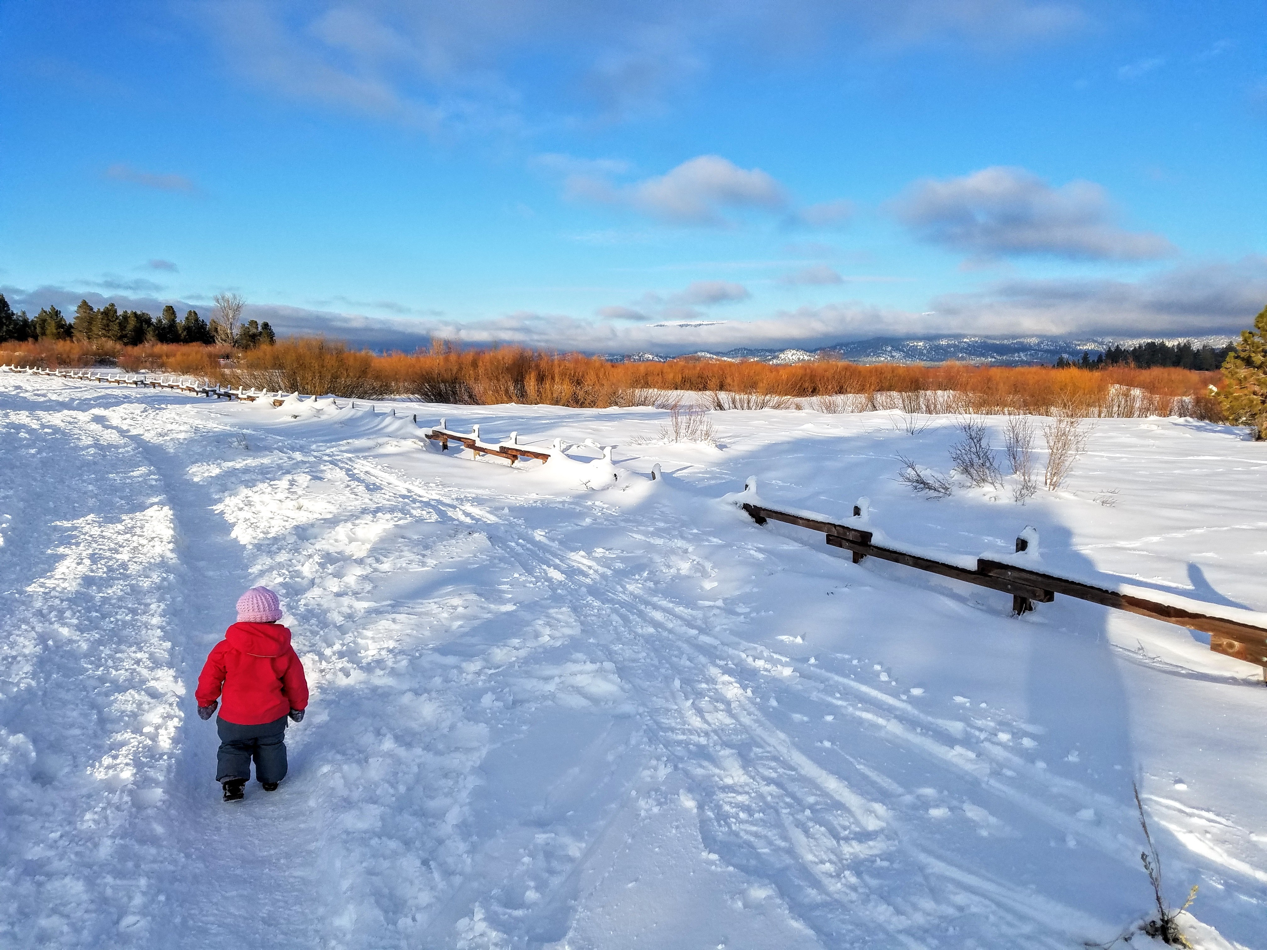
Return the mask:
[[[744,500],[745,498],[753,500]],[[770,508],[758,498],[755,479],[749,479],[744,485],[744,491],[729,495],[729,499],[742,508],[758,524],[765,524],[768,521],[780,521],[826,535],[829,545],[853,552],[854,564],[858,564],[864,557],[879,557],[886,561],[905,564],[907,567],[915,567],[931,574],[939,574],[944,578],[954,578],[968,584],[1011,594],[1014,616],[1033,611],[1035,603],[1050,603],[1055,599],[1057,594],[1064,594],[1066,597],[1076,597],[1079,600],[1090,600],[1093,604],[1136,613],[1142,617],[1152,617],[1156,621],[1175,623],[1188,630],[1200,630],[1210,635],[1210,650],[1214,652],[1262,666],[1263,681],[1267,684],[1267,628],[1228,617],[1213,617],[1207,613],[1201,613],[1200,611],[1209,609],[1209,605],[1197,600],[1187,600],[1178,597],[1169,598],[1186,604],[1181,607],[1175,603],[1161,603],[1135,597],[1134,594],[1123,594],[1116,590],[1069,580],[1068,578],[1058,578],[1052,574],[1043,574],[1020,565],[993,561],[986,557],[978,557],[974,567],[967,567],[964,565],[946,564],[931,557],[883,547],[874,543],[874,533],[864,528],[829,522],[812,512]],[[863,517],[863,504],[854,505],[854,518]],[[1038,532],[1033,528],[1026,528],[1016,538],[1016,552],[1024,554],[1030,545],[1036,546],[1036,542]]]

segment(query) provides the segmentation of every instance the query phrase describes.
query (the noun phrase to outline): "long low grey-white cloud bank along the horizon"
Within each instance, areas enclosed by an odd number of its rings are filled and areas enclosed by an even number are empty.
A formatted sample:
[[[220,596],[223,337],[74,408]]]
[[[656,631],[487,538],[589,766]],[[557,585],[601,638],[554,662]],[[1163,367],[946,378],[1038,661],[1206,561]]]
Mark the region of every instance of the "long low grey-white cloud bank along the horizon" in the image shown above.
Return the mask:
[[[737,298],[739,285],[692,285],[708,299]],[[72,313],[80,299],[99,307],[114,300],[124,309],[158,313],[171,303],[210,315],[207,303],[151,296],[103,296],[66,288],[0,288],[15,309],[35,313],[54,304]],[[597,319],[561,313],[516,312],[456,322],[440,317],[374,318],[336,310],[279,304],[248,304],[247,319],[269,320],[279,334],[324,334],[371,350],[412,351],[432,339],[469,345],[522,343],[564,351],[664,355],[734,347],[812,350],[869,337],[927,336],[1205,336],[1248,327],[1267,304],[1267,257],[1175,267],[1138,281],[1102,279],[1007,280],[974,293],[943,294],[927,310],[902,310],[845,300],[822,307],[782,309],[753,320],[650,322],[614,310]]]

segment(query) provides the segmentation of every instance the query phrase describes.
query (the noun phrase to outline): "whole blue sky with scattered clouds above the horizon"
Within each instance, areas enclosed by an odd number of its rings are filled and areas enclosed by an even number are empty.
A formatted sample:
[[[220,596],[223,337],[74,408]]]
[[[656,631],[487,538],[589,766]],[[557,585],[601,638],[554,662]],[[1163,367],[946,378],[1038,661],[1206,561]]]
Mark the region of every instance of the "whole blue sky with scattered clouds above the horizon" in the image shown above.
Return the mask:
[[[0,289],[411,348],[1199,334],[1259,3],[0,4]]]

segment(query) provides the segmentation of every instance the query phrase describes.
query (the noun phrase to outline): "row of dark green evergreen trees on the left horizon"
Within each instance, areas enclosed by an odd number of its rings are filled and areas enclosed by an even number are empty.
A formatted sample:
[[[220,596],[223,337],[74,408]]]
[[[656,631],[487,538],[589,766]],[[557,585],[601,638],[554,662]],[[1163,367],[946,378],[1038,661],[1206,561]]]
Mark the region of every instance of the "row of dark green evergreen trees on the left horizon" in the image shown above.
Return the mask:
[[[210,324],[198,315],[198,310],[186,310],[185,318],[176,315],[176,308],[167,304],[158,319],[143,310],[119,310],[113,303],[96,309],[87,300],[80,300],[75,308],[75,319],[67,320],[56,307],[46,307],[34,318],[25,310],[14,313],[13,307],[0,294],[0,342],[6,339],[111,339],[124,346],[142,343],[215,343],[220,329],[213,319]],[[276,334],[269,322],[248,320],[238,327],[233,346],[241,350],[253,350],[257,346],[271,346]],[[228,341],[224,341],[228,342]]]

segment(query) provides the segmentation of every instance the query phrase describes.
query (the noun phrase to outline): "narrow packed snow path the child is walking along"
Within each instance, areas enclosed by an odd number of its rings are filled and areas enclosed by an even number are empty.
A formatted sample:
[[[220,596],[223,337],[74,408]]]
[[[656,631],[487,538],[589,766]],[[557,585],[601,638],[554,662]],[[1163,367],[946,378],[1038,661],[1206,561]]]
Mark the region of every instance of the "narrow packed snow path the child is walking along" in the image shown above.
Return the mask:
[[[315,890],[315,816],[294,794],[279,792],[276,798],[264,798],[255,782],[250,803],[227,807],[220,802],[215,721],[204,722],[196,714],[193,688],[198,674],[233,621],[233,604],[252,583],[242,566],[242,546],[229,537],[228,524],[213,509],[205,488],[190,478],[190,466],[179,448],[161,440],[172,433],[136,424],[134,418],[128,418],[133,413],[124,413],[123,421],[118,413],[113,415],[113,431],[162,480],[177,532],[180,594],[170,623],[177,675],[188,692],[177,736],[180,757],[170,788],[171,809],[177,816],[172,850],[179,864],[162,888],[171,912],[161,928],[180,944],[315,946],[310,908]],[[127,423],[132,423],[131,431],[124,428]],[[196,434],[205,440],[205,433]],[[155,436],[160,441],[151,441]],[[294,730],[288,738],[293,745]],[[258,906],[261,894],[269,894],[267,913],[246,911]],[[279,931],[285,934],[281,940]]]

